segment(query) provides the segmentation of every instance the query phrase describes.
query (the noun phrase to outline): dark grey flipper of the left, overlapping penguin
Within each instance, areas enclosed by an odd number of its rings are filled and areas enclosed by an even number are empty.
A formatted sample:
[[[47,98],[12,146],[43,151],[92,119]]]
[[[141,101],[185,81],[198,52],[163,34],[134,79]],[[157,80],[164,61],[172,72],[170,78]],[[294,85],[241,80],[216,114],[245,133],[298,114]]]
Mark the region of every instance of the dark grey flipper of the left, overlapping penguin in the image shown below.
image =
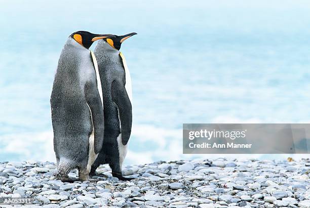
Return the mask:
[[[90,108],[94,128],[95,154],[101,151],[104,136],[103,106],[97,87],[88,82],[85,85],[85,99]]]

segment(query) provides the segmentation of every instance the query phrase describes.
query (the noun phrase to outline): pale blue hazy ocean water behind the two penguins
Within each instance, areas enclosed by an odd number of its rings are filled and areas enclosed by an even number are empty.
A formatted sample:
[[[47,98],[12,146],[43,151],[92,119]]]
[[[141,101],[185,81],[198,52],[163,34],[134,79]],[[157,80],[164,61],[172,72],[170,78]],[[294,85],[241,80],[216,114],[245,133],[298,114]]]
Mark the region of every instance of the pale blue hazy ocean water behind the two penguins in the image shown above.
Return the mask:
[[[182,123],[310,121],[307,1],[0,4],[0,161],[55,161],[49,99],[77,30],[138,33],[121,48],[133,82],[126,163],[223,156],[182,155]]]

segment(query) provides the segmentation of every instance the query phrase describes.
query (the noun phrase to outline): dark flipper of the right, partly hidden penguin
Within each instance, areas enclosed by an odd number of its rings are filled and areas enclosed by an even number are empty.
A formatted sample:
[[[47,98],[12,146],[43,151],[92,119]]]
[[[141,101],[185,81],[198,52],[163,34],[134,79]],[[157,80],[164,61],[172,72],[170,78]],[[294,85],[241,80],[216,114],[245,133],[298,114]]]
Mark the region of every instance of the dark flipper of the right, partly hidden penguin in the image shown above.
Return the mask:
[[[131,134],[132,107],[126,88],[121,81],[114,80],[112,82],[111,96],[120,112],[122,143],[126,145]]]

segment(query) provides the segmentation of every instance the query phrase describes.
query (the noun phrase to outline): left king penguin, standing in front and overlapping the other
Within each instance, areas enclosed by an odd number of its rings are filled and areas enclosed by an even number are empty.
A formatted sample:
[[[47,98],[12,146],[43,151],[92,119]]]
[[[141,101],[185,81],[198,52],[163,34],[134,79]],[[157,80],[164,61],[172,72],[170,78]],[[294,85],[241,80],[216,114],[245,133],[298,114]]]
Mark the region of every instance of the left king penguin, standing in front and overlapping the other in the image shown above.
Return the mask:
[[[62,49],[51,95],[56,178],[68,179],[70,170],[79,170],[79,179],[89,179],[91,165],[102,148],[104,117],[98,66],[88,50],[106,35],[78,31]]]

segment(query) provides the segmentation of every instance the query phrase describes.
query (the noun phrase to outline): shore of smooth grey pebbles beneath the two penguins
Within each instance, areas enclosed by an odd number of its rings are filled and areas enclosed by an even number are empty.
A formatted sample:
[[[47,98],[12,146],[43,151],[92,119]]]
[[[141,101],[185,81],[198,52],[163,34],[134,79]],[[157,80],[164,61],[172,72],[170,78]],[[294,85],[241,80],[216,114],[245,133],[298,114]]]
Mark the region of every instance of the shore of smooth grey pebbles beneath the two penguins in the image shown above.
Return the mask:
[[[0,163],[0,202],[31,198],[22,207],[310,207],[310,160],[191,160],[127,165],[96,181],[55,180],[52,162]],[[69,176],[77,178],[76,171]],[[0,207],[11,207],[2,205]]]

